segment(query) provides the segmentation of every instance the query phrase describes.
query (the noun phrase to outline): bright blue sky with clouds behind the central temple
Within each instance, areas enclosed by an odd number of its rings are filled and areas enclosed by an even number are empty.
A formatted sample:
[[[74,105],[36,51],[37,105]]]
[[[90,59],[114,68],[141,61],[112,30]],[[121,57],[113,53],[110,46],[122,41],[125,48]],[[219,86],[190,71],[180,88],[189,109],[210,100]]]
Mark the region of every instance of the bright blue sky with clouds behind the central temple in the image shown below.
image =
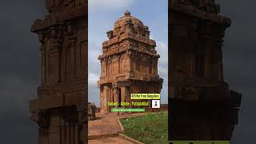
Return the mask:
[[[168,1],[167,0],[89,0],[89,102],[99,106],[100,62],[102,42],[106,41],[106,31],[113,30],[114,22],[122,17],[125,10],[132,16],[149,26],[150,38],[157,43],[156,50],[160,54],[158,74],[164,79],[161,102],[168,102]]]

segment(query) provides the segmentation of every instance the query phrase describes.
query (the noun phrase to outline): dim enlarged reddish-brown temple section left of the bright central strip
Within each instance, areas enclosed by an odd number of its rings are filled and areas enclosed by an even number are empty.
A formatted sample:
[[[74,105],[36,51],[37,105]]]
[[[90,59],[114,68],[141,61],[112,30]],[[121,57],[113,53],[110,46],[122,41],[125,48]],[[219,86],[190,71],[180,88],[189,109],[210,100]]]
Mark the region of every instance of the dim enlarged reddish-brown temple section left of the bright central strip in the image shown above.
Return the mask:
[[[31,31],[42,43],[41,86],[30,102],[39,144],[87,143],[87,1],[46,0]]]

